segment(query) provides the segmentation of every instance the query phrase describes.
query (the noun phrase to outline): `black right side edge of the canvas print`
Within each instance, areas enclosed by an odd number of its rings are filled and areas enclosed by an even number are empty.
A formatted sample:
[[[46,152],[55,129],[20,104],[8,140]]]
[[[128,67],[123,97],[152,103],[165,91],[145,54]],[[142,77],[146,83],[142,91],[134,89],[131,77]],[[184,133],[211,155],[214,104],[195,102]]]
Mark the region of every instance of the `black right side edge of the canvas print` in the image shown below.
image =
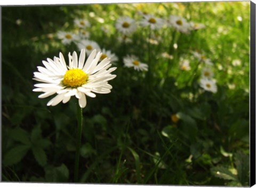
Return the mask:
[[[255,3],[250,6],[250,186],[255,185]]]

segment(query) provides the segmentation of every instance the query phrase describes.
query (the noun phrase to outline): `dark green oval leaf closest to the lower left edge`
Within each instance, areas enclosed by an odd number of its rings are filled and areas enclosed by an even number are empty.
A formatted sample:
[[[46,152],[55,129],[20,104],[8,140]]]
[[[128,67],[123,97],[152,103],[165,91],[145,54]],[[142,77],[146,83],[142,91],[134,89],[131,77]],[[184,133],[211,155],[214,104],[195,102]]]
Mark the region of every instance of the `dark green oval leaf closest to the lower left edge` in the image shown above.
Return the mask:
[[[3,156],[4,166],[10,166],[19,163],[25,157],[30,146],[20,144],[5,153]]]

